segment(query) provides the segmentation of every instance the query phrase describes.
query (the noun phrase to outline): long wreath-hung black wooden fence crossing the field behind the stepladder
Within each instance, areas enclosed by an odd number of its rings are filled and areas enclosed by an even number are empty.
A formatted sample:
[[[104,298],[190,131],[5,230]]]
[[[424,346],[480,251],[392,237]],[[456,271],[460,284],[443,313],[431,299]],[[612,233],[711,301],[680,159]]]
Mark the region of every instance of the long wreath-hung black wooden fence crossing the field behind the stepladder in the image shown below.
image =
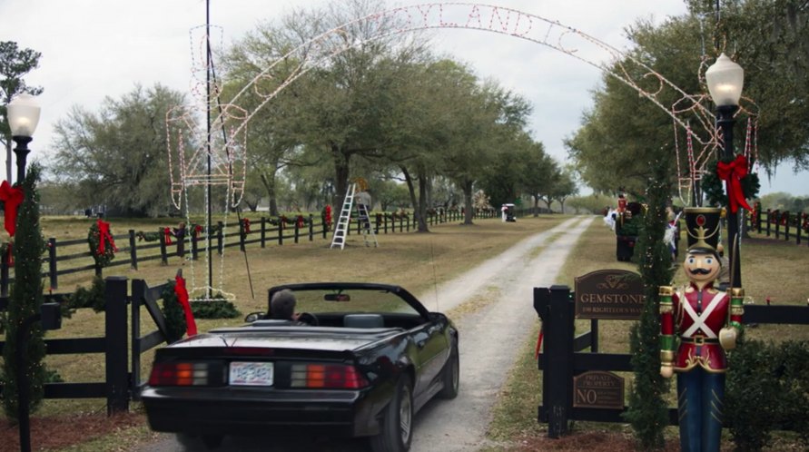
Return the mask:
[[[496,216],[494,211],[477,211],[474,218],[492,218]],[[413,215],[395,213],[376,213],[374,215],[374,227],[377,234],[388,234],[397,232],[415,231],[418,226]],[[300,220],[303,221],[300,221]],[[449,221],[461,221],[462,212],[457,210],[430,211],[427,217],[429,225],[436,225]],[[359,221],[351,231],[360,233]],[[114,225],[113,225],[114,226]],[[244,250],[248,245],[259,245],[265,248],[268,245],[283,245],[286,243],[298,243],[299,241],[314,241],[318,239],[330,239],[330,228],[326,226],[325,219],[308,215],[307,217],[297,217],[286,220],[285,218],[261,217],[256,221],[242,221],[236,224],[229,224],[226,228],[222,221],[212,228],[211,248],[222,254],[225,248],[240,247]],[[207,236],[204,233],[194,234],[187,232],[185,240],[175,239],[169,243],[164,233],[164,228],[156,229],[157,241],[143,242],[138,237],[138,233],[129,230],[126,234],[113,235],[113,240],[118,247],[116,259],[110,262],[108,267],[128,265],[133,270],[138,270],[138,264],[149,260],[160,260],[163,265],[168,265],[170,260],[183,260],[186,253],[190,254],[193,260],[198,259],[200,251],[204,251],[207,246]],[[169,236],[169,240],[171,236]],[[76,239],[72,241],[57,241],[50,238],[47,241],[47,251],[43,256],[43,278],[49,282],[49,290],[58,290],[59,277],[84,272],[94,271],[96,275],[102,275],[102,268],[95,264],[93,253],[89,250],[86,239]],[[8,296],[8,289],[14,277],[10,274],[13,267],[9,262],[7,253],[0,253],[0,297]]]

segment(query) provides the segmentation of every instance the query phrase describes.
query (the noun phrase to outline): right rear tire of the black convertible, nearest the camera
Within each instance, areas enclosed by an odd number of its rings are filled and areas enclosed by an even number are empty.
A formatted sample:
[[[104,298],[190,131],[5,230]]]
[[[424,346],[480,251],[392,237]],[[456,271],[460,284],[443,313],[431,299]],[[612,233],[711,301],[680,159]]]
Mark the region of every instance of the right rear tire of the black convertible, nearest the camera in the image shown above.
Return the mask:
[[[374,452],[406,452],[413,438],[413,384],[402,375],[380,419],[380,434],[370,437]]]

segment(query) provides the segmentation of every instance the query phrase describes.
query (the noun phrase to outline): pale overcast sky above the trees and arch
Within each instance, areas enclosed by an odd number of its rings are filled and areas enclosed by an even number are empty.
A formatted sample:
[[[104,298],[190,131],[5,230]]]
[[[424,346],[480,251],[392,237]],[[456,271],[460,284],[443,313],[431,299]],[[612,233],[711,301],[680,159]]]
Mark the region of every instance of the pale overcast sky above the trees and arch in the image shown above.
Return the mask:
[[[400,0],[388,5],[423,3]],[[625,27],[637,18],[660,23],[669,15],[686,13],[683,0],[481,3],[558,21],[619,49],[628,45]],[[211,24],[222,27],[223,44],[231,44],[257,24],[277,20],[293,6],[326,4],[321,0],[211,0]],[[54,123],[64,119],[74,105],[94,111],[105,96],[119,99],[135,84],[149,87],[160,83],[189,93],[189,33],[204,24],[203,0],[0,0],[0,41],[15,41],[42,53],[40,67],[25,77],[27,84],[44,87],[39,98],[42,118],[29,159],[46,159]],[[501,34],[442,29],[433,41],[439,52],[471,64],[481,77],[495,78],[524,95],[534,106],[530,128],[535,139],[565,162],[562,140],[577,130],[582,112],[592,104],[590,91],[601,77],[595,67],[547,46]],[[599,55],[591,57],[598,59]],[[737,129],[743,133],[741,126]],[[761,178],[761,194],[809,195],[809,172],[794,175],[784,165],[772,182],[766,181],[764,173]]]

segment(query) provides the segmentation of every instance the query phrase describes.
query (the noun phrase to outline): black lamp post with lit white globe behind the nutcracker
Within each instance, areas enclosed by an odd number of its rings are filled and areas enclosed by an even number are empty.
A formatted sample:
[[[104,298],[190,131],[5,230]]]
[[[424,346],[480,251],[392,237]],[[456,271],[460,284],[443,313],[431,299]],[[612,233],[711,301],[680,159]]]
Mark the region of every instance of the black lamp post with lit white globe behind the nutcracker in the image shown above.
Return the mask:
[[[734,113],[739,109],[739,99],[742,97],[742,88],[745,85],[745,71],[742,66],[735,64],[725,54],[720,54],[716,62],[705,71],[705,82],[708,91],[716,104],[716,125],[722,130],[724,143],[723,162],[731,162],[735,158],[733,149]],[[742,287],[742,269],[738,260],[739,242],[736,237],[739,233],[738,214],[731,208],[731,182],[726,182],[727,193],[726,220],[727,220],[727,256],[731,266],[730,280],[735,288]]]

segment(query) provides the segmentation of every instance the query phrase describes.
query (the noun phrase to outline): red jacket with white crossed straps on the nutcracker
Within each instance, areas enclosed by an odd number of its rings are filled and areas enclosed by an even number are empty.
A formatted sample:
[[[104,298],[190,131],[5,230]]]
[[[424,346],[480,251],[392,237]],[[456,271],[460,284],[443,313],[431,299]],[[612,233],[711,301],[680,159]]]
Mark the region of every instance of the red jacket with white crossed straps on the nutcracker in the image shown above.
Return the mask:
[[[725,350],[719,345],[719,330],[728,323],[731,300],[727,293],[711,284],[698,290],[691,284],[685,294],[671,294],[670,304],[661,300],[661,359],[669,361],[676,372],[687,372],[696,366],[709,372],[725,372]],[[741,310],[732,310],[730,323],[741,326]],[[676,353],[675,336],[679,339]]]

